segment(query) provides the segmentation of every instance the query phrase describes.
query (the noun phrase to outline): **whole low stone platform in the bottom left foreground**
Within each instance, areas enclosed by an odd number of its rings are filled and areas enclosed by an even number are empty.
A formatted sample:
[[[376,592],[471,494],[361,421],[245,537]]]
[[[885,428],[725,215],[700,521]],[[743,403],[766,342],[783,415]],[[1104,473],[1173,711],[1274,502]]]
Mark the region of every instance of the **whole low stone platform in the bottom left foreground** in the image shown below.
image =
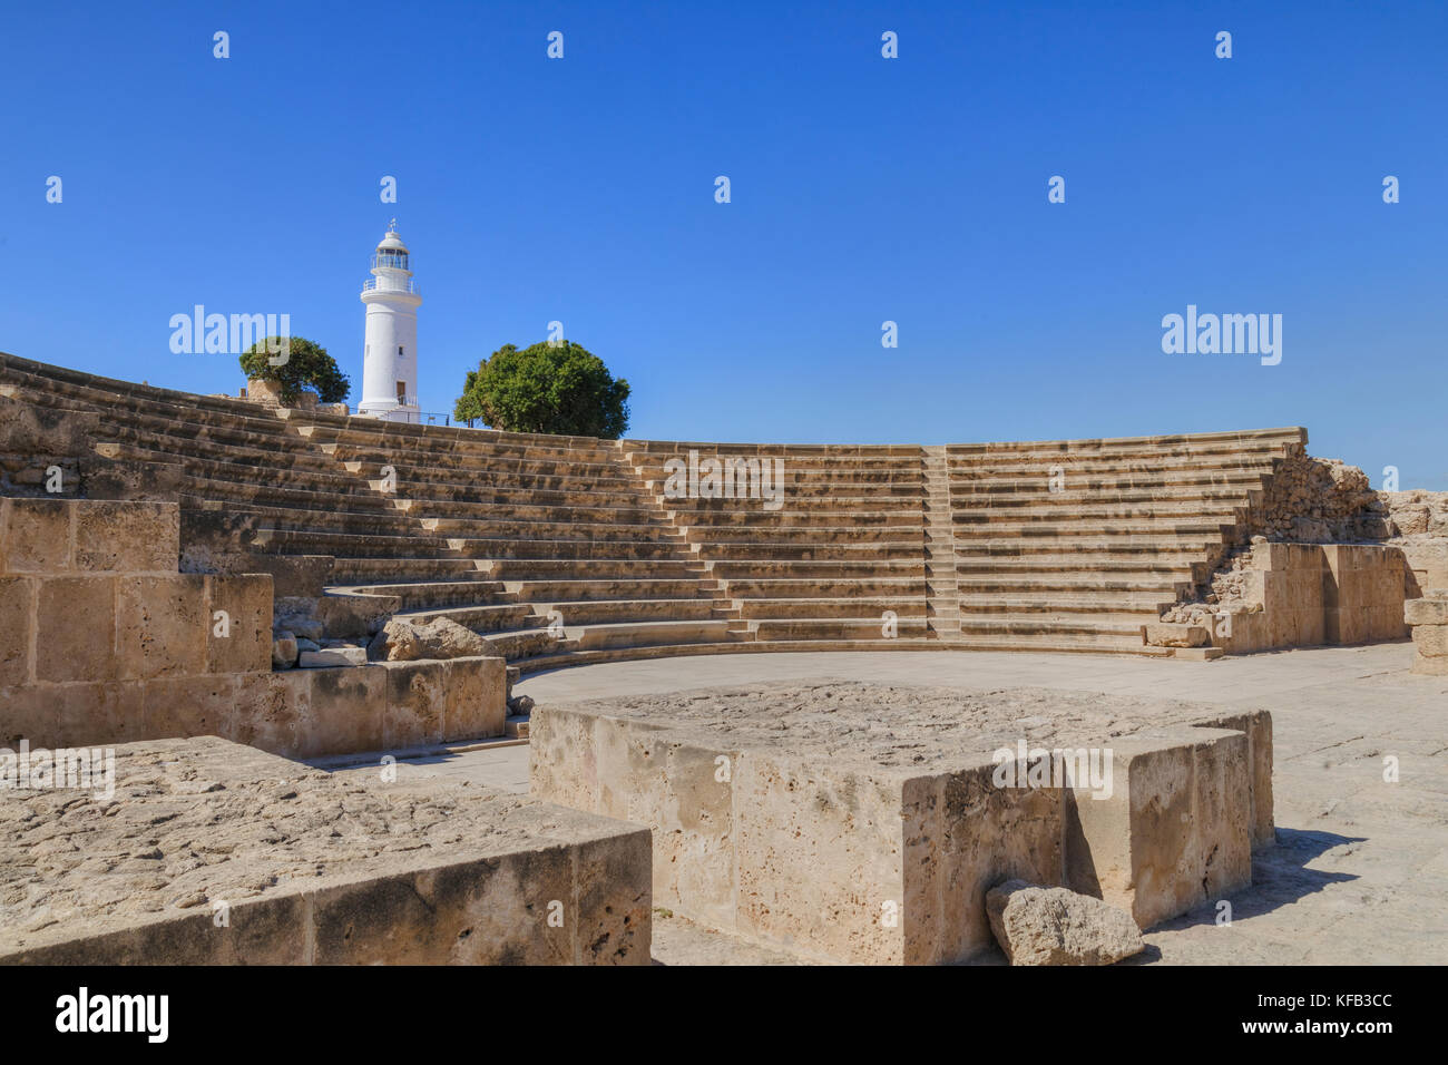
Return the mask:
[[[204,738],[0,803],[0,964],[647,965],[649,832]]]

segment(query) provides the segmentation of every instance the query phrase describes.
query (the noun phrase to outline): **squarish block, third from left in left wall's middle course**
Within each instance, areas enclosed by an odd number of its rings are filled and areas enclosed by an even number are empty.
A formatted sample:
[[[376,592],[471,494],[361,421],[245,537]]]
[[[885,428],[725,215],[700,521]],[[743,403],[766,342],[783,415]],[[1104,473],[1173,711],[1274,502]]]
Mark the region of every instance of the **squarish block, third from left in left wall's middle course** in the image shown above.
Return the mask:
[[[210,614],[198,574],[116,578],[120,677],[194,677],[206,672]]]

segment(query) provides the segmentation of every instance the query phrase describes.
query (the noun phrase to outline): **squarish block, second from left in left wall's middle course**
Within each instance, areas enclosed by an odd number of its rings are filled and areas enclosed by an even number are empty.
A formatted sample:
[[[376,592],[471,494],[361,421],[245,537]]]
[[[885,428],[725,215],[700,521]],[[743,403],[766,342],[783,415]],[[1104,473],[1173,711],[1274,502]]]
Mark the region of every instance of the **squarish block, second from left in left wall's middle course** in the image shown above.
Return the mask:
[[[109,681],[116,678],[116,578],[49,577],[39,581],[35,680]]]

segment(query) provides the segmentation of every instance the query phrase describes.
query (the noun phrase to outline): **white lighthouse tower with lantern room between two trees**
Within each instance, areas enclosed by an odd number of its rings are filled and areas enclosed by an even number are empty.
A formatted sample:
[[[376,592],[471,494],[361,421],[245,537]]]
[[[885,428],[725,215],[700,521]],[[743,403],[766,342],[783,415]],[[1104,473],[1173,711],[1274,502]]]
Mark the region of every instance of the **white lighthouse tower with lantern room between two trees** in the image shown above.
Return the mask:
[[[417,307],[421,301],[407,267],[407,245],[392,219],[372,255],[372,278],[362,283],[366,341],[359,414],[390,422],[421,420],[417,404]]]

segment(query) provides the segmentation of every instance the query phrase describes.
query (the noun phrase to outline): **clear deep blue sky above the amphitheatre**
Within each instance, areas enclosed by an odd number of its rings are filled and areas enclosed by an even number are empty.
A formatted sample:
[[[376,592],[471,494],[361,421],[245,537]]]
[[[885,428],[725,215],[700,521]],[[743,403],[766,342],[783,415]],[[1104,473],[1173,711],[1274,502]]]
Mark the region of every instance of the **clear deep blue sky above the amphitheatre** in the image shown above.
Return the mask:
[[[631,436],[1306,425],[1448,488],[1444,3],[56,3],[4,36],[17,355],[235,393],[169,317],[285,312],[355,403],[395,214],[426,410],[557,319]],[[1187,304],[1281,314],[1281,364],[1163,354]]]

